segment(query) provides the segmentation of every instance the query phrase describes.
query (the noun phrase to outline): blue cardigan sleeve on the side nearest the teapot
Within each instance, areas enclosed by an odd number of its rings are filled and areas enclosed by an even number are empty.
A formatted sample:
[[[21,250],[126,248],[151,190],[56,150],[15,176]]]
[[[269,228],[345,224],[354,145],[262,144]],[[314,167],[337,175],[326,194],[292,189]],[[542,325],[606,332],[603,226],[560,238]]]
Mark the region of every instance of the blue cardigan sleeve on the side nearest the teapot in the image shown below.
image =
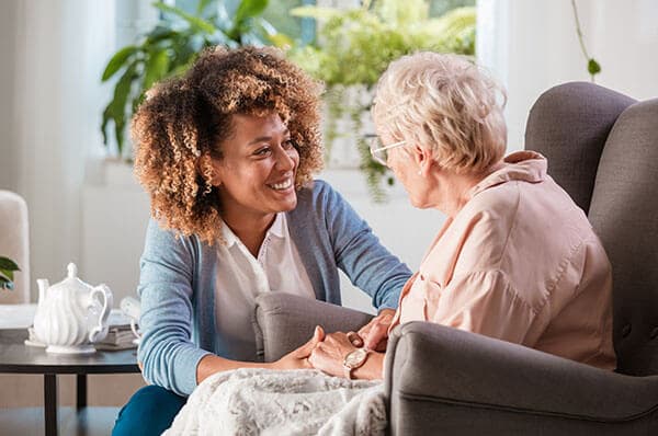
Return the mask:
[[[209,352],[192,342],[194,255],[189,239],[150,220],[140,260],[143,332],[138,360],[147,382],[189,395],[196,366]]]

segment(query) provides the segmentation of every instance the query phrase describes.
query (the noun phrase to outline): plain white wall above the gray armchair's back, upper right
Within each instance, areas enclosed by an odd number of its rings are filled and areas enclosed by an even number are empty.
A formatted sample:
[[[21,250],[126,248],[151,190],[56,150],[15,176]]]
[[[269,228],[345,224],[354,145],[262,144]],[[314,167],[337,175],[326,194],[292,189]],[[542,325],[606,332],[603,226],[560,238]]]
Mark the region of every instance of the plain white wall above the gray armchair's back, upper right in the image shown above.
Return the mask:
[[[577,0],[597,83],[635,99],[658,96],[658,2]],[[556,84],[590,80],[570,0],[479,0],[477,51],[508,89],[509,149],[523,148],[532,103]]]

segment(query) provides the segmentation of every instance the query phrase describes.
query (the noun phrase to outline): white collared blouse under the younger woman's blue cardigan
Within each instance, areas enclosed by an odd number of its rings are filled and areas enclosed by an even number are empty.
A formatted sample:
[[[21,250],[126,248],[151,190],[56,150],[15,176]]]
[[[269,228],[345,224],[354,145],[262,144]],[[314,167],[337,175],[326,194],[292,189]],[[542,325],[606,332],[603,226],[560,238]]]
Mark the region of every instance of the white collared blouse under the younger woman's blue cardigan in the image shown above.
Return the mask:
[[[276,214],[258,259],[226,223],[222,231],[226,244],[217,244],[216,328],[223,337],[225,357],[253,360],[256,339],[251,318],[256,297],[281,291],[315,298],[315,292],[284,213]]]

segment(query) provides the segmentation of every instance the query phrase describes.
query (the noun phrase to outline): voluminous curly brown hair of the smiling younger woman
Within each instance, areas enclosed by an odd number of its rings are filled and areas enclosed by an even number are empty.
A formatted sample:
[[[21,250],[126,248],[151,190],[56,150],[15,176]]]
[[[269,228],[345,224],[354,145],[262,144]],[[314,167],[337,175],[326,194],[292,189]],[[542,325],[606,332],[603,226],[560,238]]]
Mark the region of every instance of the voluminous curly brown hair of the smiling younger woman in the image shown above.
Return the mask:
[[[211,159],[231,136],[234,114],[277,113],[299,153],[295,187],[322,167],[321,85],[272,47],[205,50],[181,78],[146,93],[132,123],[135,174],[160,226],[213,244],[222,205]]]

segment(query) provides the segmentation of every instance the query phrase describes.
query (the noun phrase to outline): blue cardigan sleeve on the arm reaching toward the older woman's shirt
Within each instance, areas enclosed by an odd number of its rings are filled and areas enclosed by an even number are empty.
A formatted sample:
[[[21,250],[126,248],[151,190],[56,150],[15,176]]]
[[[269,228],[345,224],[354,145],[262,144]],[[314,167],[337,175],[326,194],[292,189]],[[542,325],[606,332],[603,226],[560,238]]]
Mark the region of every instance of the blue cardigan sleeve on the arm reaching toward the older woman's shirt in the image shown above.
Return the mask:
[[[396,309],[411,272],[382,245],[367,222],[338,192],[325,182],[316,183],[321,183],[324,190],[326,225],[336,264],[354,286],[371,296],[377,310]]]

